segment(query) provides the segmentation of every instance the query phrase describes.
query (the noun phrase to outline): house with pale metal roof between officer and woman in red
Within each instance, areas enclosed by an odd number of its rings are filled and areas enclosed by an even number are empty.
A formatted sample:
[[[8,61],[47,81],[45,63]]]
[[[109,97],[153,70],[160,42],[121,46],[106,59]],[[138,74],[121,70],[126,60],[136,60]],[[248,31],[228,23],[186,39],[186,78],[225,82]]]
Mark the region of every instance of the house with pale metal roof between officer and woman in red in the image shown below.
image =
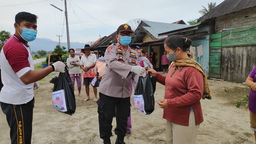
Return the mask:
[[[184,24],[183,20],[178,22],[182,22],[182,24],[141,21],[132,34],[132,42],[130,45],[132,47],[138,45],[140,48],[144,49],[144,51],[148,52],[148,54],[150,54],[151,51],[157,52],[158,61],[156,62],[156,70],[161,71],[161,59],[164,54],[164,40],[168,36],[159,36],[158,34],[190,27],[190,25]]]

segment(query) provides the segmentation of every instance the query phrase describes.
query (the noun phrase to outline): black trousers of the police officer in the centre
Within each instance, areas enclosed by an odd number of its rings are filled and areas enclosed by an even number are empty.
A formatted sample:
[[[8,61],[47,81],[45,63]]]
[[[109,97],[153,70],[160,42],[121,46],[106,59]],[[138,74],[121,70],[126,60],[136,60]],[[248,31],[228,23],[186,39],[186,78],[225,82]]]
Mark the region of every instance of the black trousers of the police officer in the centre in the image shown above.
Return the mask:
[[[115,98],[106,96],[100,93],[100,98],[97,101],[100,138],[109,138],[112,136],[112,120],[115,114],[116,106],[116,128],[115,134],[124,136],[126,134],[127,119],[130,116],[130,97],[128,98]]]

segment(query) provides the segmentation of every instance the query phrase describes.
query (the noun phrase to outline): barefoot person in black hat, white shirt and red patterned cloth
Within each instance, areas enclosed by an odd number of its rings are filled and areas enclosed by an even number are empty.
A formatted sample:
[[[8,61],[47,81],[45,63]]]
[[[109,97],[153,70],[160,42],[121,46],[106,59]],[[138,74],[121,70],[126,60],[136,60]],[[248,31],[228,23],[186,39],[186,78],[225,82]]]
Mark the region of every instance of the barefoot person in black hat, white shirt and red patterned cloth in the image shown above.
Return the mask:
[[[84,52],[84,55],[81,57],[80,67],[84,70],[83,73],[83,85],[85,85],[86,99],[84,101],[90,100],[90,82],[92,82],[93,78],[95,78],[94,66],[97,60],[97,56],[95,54],[91,54],[91,47],[89,44],[84,45],[84,49],[81,50]],[[97,88],[92,87],[94,92],[94,100],[97,101]]]

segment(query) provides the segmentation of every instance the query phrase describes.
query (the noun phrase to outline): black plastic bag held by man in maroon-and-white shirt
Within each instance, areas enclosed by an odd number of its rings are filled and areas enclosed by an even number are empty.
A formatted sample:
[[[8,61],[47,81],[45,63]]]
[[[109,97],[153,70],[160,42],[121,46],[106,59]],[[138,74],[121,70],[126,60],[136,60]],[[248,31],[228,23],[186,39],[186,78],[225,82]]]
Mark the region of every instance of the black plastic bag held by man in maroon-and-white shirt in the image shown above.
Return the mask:
[[[65,68],[65,73],[60,72],[59,76],[53,79],[51,80],[54,82],[52,90],[53,107],[59,112],[71,116],[76,111],[76,99],[68,69]]]

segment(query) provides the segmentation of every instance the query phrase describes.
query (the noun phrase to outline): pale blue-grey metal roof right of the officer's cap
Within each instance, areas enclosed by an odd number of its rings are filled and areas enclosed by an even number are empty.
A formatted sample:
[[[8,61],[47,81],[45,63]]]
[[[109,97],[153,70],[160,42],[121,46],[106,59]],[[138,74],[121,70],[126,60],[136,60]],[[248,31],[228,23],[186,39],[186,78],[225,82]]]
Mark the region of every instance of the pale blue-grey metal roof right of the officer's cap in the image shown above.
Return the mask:
[[[160,39],[160,38],[166,38],[167,36],[158,36],[160,33],[164,32],[170,32],[173,30],[178,30],[182,28],[187,28],[190,27],[191,25],[186,25],[186,24],[168,24],[168,23],[162,23],[162,22],[150,22],[150,21],[143,21],[148,26],[142,26],[145,28],[150,34],[152,34],[155,38]]]

